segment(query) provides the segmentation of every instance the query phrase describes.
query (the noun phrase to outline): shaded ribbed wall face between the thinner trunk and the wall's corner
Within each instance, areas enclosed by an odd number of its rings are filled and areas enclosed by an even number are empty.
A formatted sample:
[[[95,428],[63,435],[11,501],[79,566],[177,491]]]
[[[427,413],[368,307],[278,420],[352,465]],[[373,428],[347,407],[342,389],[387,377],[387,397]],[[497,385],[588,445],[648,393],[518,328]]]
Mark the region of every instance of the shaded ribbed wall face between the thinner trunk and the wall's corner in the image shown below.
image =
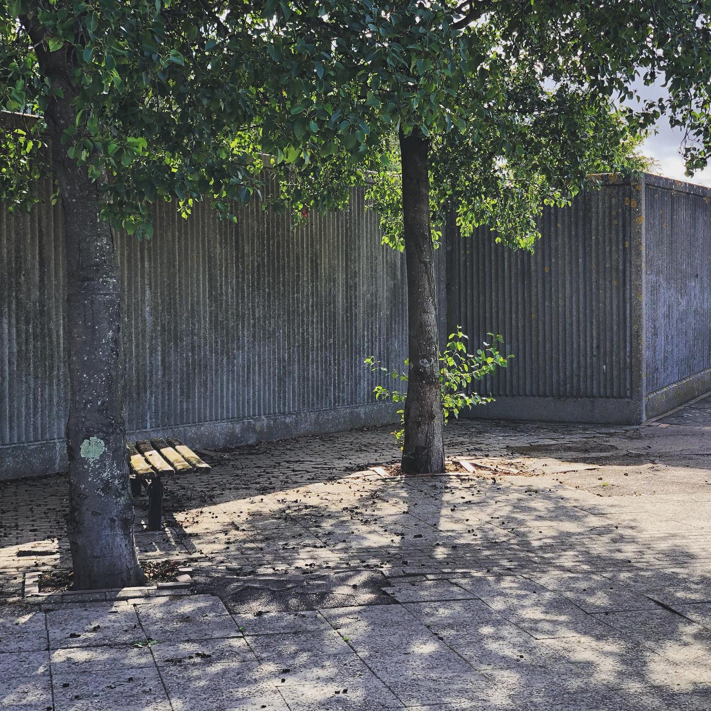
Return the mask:
[[[451,231],[449,325],[461,324],[472,346],[501,333],[515,356],[481,383],[496,402],[471,417],[641,418],[640,193],[606,182],[571,208],[546,208],[533,254],[497,245],[487,228]]]

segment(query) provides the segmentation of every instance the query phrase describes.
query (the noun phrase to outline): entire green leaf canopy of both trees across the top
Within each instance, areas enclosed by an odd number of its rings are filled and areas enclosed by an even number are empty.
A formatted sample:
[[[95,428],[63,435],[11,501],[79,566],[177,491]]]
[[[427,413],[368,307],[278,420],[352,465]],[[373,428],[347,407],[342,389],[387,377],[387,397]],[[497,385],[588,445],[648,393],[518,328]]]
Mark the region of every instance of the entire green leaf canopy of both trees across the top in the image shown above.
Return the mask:
[[[148,205],[267,198],[307,219],[370,181],[402,247],[397,134],[430,142],[431,212],[530,248],[543,204],[589,174],[638,169],[630,145],[668,114],[688,169],[711,149],[711,0],[0,0],[0,198],[31,201],[47,111],[102,187],[102,216],[149,235]],[[61,58],[58,85],[38,58]],[[45,62],[46,63],[46,62]],[[664,75],[668,96],[634,82]],[[264,156],[276,185],[262,172]],[[434,235],[437,239],[437,235]]]

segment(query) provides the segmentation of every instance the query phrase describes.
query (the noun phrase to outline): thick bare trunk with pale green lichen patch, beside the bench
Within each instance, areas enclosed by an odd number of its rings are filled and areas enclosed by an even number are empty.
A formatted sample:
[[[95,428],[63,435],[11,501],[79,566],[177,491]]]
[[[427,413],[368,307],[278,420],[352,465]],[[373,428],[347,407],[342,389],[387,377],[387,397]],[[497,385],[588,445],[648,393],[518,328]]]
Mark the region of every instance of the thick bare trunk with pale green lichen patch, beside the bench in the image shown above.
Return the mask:
[[[61,137],[74,125],[70,65],[64,52],[38,51],[61,87],[46,119],[63,208],[67,269],[70,508],[68,534],[77,589],[145,584],[134,546],[122,401],[121,284],[114,235],[99,219],[99,191]]]

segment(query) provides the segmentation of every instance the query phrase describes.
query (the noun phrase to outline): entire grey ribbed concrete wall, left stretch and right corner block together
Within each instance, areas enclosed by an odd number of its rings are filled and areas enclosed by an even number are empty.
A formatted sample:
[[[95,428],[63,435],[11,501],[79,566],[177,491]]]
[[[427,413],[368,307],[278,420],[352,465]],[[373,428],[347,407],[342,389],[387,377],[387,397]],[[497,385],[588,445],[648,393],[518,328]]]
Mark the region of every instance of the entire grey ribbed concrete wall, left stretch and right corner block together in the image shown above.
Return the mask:
[[[237,225],[161,205],[153,240],[119,237],[129,432],[219,447],[392,421],[363,358],[402,365],[405,263],[364,208],[355,191],[292,230],[259,205]],[[447,225],[442,338],[446,319],[515,355],[471,415],[634,423],[709,390],[710,220],[711,190],[645,176],[545,210],[533,255]],[[14,476],[65,464],[60,224],[58,207],[0,209],[0,471]]]

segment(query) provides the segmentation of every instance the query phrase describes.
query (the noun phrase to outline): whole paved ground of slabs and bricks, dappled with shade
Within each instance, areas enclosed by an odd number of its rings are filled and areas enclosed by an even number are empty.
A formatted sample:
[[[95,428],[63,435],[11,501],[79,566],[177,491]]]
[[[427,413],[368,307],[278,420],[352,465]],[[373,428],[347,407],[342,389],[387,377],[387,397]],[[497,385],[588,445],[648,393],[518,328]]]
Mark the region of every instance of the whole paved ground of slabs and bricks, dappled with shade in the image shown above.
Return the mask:
[[[711,710],[711,397],[641,428],[455,422],[204,454],[144,560],[195,591],[26,604],[67,567],[61,475],[0,491],[0,708]],[[143,508],[142,508],[143,507]],[[115,597],[115,596],[114,596]],[[3,602],[4,601],[4,604]]]

